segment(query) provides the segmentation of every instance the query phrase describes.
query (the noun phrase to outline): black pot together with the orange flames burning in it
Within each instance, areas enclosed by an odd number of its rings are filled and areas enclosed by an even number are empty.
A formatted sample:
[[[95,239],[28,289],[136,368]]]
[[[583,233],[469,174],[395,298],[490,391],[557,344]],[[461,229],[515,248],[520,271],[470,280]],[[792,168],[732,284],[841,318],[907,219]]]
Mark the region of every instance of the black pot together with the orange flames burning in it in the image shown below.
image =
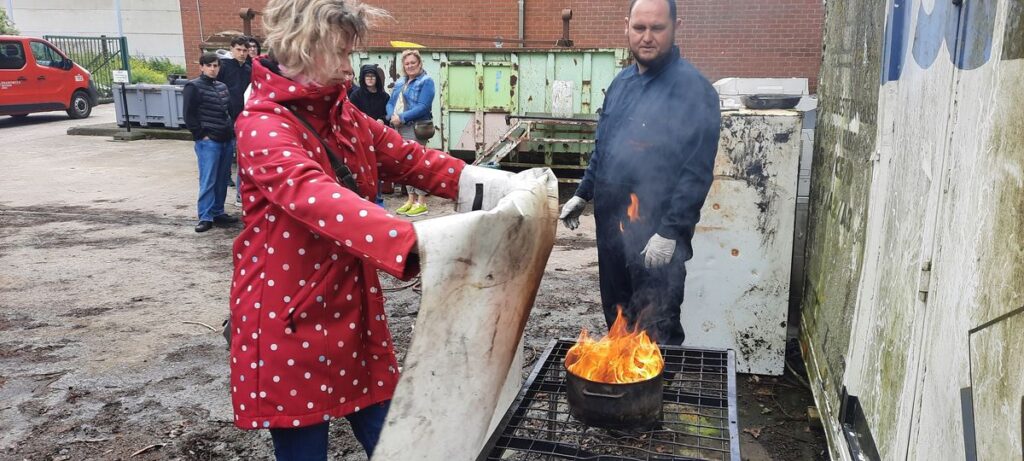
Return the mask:
[[[598,341],[587,331],[565,354],[569,414],[584,424],[648,430],[662,419],[665,361],[643,331],[630,331],[623,317]]]

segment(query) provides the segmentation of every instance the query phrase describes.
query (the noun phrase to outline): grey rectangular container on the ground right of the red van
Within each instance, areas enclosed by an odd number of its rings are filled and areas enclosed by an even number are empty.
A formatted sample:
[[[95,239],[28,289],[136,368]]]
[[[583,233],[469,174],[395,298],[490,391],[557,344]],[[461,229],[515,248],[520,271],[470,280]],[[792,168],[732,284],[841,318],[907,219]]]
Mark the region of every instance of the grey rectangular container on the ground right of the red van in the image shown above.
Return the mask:
[[[125,126],[125,102],[128,104],[128,120],[132,126],[161,126],[166,128],[183,128],[185,126],[182,111],[182,86],[180,85],[125,85],[122,97],[121,88],[114,88],[114,112],[118,125]]]

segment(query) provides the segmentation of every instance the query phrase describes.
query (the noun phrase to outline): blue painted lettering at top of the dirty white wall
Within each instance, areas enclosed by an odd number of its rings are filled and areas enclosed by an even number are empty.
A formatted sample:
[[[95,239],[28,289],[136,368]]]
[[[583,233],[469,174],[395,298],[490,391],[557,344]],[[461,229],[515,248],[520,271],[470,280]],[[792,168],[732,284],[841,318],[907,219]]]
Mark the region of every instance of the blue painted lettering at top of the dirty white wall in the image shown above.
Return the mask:
[[[974,70],[992,54],[995,30],[996,0],[975,0],[952,5],[947,0],[935,0],[926,11],[923,1],[893,0],[886,24],[882,82],[897,81],[903,74],[909,32],[910,9],[918,6],[910,54],[922,69],[931,69],[942,53],[961,70]],[[962,24],[963,22],[963,24]],[[959,34],[957,34],[959,29]],[[957,54],[957,43],[962,46]]]

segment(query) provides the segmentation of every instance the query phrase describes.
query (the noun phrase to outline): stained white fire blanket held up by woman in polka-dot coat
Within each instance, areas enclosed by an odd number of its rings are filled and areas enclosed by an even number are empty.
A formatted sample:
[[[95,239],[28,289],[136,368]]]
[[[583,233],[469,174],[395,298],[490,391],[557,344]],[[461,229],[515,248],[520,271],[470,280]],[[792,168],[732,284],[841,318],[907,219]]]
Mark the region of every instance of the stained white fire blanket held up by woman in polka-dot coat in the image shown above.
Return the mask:
[[[555,241],[551,170],[476,171],[416,223],[423,297],[374,460],[473,459],[521,384],[520,339]],[[466,180],[465,178],[463,180]]]

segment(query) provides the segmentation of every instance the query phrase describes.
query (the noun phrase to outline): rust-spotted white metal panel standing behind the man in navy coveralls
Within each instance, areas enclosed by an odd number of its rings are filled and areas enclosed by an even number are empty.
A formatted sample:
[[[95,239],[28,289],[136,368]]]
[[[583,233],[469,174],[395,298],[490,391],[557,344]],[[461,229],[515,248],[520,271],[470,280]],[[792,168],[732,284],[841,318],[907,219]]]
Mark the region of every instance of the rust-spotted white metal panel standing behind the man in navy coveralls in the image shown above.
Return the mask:
[[[736,351],[736,371],[781,375],[801,116],[722,115],[715,182],[687,265],[686,345]]]

